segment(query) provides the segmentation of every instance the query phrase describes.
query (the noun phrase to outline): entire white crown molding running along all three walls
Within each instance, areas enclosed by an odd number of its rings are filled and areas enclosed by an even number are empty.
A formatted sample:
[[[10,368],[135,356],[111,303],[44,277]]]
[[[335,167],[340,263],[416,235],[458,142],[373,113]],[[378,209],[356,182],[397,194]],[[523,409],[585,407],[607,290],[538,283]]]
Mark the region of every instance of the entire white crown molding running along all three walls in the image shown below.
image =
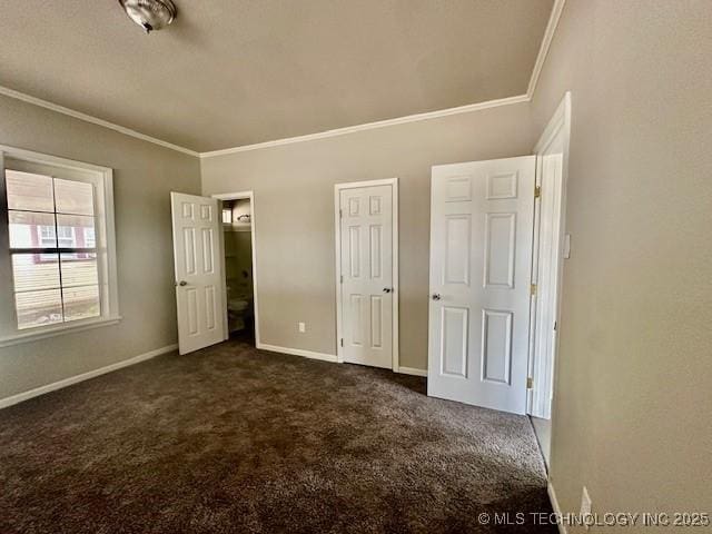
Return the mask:
[[[452,115],[461,115],[461,113],[469,113],[473,111],[481,111],[483,109],[496,108],[500,106],[508,106],[512,103],[522,103],[528,102],[532,100],[534,92],[536,91],[536,85],[538,82],[538,77],[542,72],[542,68],[544,67],[544,62],[546,61],[546,56],[548,55],[548,49],[551,47],[552,40],[554,39],[554,33],[556,32],[556,27],[558,26],[558,20],[561,19],[561,13],[564,9],[564,3],[566,0],[554,0],[554,4],[552,7],[552,12],[548,17],[548,22],[546,23],[546,29],[544,30],[544,37],[542,38],[542,43],[538,49],[538,53],[536,56],[536,61],[534,62],[534,69],[532,70],[532,76],[530,78],[530,83],[525,95],[518,95],[516,97],[501,98],[497,100],[488,100],[485,102],[471,103],[467,106],[459,106],[456,108],[447,108],[438,111],[428,111],[425,113],[416,113],[408,115],[405,117],[398,117],[395,119],[386,119],[378,120],[375,122],[366,122],[364,125],[348,126],[345,128],[336,128],[334,130],[319,131],[316,134],[307,134],[305,136],[296,136],[288,137],[284,139],[276,139],[273,141],[264,141],[257,142],[254,145],[243,145],[234,148],[226,148],[221,150],[211,150],[207,152],[197,152],[195,150],[190,150],[189,148],[180,147],[178,145],[174,145],[172,142],[164,141],[161,139],[157,139],[155,137],[147,136],[141,134],[140,131],[131,130],[130,128],[126,128],[123,126],[115,125],[113,122],[109,122],[103,119],[99,119],[97,117],[92,117],[87,113],[82,113],[81,111],[76,111],[70,108],[66,108],[63,106],[59,106],[57,103],[49,102],[47,100],[42,100],[40,98],[31,97],[20,91],[16,91],[13,89],[0,86],[0,95],[4,95],[6,97],[14,98],[17,100],[22,100],[28,103],[33,103],[34,106],[39,106],[41,108],[50,109],[52,111],[57,111],[58,113],[67,115],[69,117],[73,117],[76,119],[83,120],[86,122],[91,122],[93,125],[102,126],[110,130],[118,131],[120,134],[135,137],[137,139],[141,139],[144,141],[152,142],[154,145],[158,145],[165,148],[169,148],[171,150],[177,150],[182,154],[187,154],[189,156],[194,156],[200,159],[204,158],[212,158],[216,156],[225,156],[228,154],[237,154],[237,152],[246,152],[249,150],[259,150],[263,148],[270,147],[279,147],[284,145],[293,145],[295,142],[305,142],[313,141],[316,139],[326,139],[329,137],[338,137],[345,136],[348,134],[355,134],[358,131],[374,130],[377,128],[386,128],[388,126],[396,125],[405,125],[408,122],[417,122],[421,120],[429,120],[437,119],[441,117],[448,117]]]

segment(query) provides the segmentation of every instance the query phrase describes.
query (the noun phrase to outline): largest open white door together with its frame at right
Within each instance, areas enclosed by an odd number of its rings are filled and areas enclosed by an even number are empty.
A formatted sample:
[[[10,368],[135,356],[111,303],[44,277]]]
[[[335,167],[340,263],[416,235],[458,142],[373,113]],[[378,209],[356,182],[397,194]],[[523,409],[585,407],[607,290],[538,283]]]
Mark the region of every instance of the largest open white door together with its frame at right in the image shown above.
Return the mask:
[[[428,395],[528,414],[550,455],[571,125],[535,156],[433,167]]]

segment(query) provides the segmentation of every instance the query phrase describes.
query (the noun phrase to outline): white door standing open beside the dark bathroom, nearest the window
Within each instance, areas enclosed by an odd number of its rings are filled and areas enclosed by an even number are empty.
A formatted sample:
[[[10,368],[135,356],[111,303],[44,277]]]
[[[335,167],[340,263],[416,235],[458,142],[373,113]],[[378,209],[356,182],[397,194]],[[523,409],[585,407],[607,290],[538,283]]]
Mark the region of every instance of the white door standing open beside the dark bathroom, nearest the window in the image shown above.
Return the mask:
[[[178,349],[191,353],[226,338],[220,211],[215,198],[170,194]]]

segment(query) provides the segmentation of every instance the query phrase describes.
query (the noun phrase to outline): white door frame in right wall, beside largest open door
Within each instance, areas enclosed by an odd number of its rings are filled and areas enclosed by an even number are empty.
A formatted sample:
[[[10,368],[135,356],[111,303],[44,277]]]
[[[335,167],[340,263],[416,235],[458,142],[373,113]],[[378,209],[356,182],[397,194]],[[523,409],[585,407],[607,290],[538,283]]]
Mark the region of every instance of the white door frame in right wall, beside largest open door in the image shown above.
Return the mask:
[[[560,137],[561,136],[561,137]],[[536,360],[534,358],[534,338],[537,334],[535,322],[535,304],[532,306],[531,318],[531,339],[530,339],[530,377],[551,376],[551,382],[547,385],[546,390],[537,389],[536,380],[534,382],[534,388],[527,392],[526,413],[532,414],[545,413],[546,403],[550,402],[553,406],[554,395],[556,393],[556,355],[558,354],[558,325],[561,325],[561,294],[562,294],[562,280],[564,268],[564,239],[566,237],[566,182],[568,180],[568,145],[571,137],[571,91],[564,95],[561,103],[556,108],[556,111],[550,119],[548,123],[544,128],[542,136],[534,146],[534,154],[536,155],[536,185],[541,186],[542,180],[542,156],[546,152],[548,147],[557,139],[561,139],[563,146],[563,161],[561,172],[561,211],[558,215],[558,266],[555,273],[555,283],[553,294],[538,295],[536,298],[545,298],[546,306],[554,307],[554,317],[557,324],[556,336],[554,338],[554,357],[547,357],[545,359]],[[535,206],[535,233],[534,233],[534,254],[532,258],[532,283],[535,284],[540,277],[538,273],[538,220],[540,220],[540,204]],[[552,414],[553,415],[553,414]]]

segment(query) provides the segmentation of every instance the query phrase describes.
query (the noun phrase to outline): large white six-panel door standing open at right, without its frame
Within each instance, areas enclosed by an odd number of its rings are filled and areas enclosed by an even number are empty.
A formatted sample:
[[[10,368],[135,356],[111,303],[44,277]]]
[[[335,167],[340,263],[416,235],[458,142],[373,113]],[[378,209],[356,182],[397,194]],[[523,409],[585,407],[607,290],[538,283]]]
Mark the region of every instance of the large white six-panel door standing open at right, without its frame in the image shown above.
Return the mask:
[[[428,395],[524,414],[535,158],[433,167]]]

